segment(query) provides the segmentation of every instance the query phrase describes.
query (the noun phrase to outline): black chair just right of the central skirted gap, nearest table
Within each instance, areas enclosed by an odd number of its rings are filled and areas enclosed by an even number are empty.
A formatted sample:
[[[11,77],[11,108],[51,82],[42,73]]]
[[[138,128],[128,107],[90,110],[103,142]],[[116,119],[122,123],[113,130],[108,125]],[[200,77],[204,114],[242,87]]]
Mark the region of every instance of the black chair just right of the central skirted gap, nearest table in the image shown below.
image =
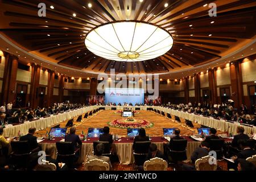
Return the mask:
[[[146,161],[150,144],[151,144],[150,141],[134,143],[133,155],[134,155],[135,166],[137,167],[143,166],[144,162]]]

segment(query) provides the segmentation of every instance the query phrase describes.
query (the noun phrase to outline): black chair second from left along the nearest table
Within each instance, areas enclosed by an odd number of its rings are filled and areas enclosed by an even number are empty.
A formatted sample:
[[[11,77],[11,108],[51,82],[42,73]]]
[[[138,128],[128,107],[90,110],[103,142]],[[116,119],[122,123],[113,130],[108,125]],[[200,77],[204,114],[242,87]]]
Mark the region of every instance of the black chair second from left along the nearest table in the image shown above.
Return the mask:
[[[68,168],[75,168],[77,161],[77,152],[80,148],[75,148],[72,142],[56,142],[57,147],[57,160],[66,163]]]

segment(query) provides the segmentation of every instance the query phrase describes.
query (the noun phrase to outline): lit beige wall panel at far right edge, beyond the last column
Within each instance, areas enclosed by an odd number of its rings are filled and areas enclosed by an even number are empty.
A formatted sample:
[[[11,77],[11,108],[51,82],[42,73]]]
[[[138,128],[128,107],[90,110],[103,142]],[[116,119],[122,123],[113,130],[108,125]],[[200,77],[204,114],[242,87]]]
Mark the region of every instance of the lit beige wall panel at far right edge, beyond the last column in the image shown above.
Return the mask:
[[[243,82],[256,80],[256,60],[245,59],[241,64]]]

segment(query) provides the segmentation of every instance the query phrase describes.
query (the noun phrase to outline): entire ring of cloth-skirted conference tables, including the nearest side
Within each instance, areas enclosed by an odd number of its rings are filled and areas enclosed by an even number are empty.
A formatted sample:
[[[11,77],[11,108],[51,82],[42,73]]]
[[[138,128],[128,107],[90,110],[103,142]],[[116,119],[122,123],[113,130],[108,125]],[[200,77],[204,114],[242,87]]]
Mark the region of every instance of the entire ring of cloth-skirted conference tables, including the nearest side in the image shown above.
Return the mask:
[[[46,129],[47,127],[51,127],[67,119],[71,119],[73,117],[76,117],[77,115],[88,113],[89,111],[98,109],[100,107],[101,108],[103,107],[105,110],[112,110],[112,109],[147,110],[148,108],[150,108],[151,110],[155,109],[155,110],[163,111],[164,113],[176,115],[177,117],[180,117],[180,118],[188,119],[189,121],[192,121],[192,122],[200,123],[205,126],[214,127],[221,131],[229,131],[229,133],[232,133],[232,134],[236,134],[236,127],[240,126],[240,124],[203,117],[202,115],[189,114],[183,111],[168,109],[166,107],[160,107],[160,106],[87,106],[81,109],[68,111],[62,114],[52,115],[51,117],[40,118],[36,121],[25,122],[20,125],[10,126],[3,130],[4,131],[3,134],[5,137],[18,136],[19,131],[20,133],[26,134],[30,127],[36,127],[37,130],[43,130],[43,129]],[[243,126],[243,127],[245,128],[246,133],[256,133],[255,127],[249,127],[249,126]],[[188,160],[187,161],[189,161],[192,152],[195,150],[196,147],[199,147],[200,142],[193,140],[188,136],[183,136],[183,137],[188,140],[188,144],[187,144]],[[45,150],[48,145],[55,146],[55,150],[56,150],[55,143],[62,140],[63,140],[62,138],[54,138],[53,140],[44,139],[44,140],[38,140],[38,143],[42,147],[42,150]],[[98,140],[98,138],[89,138],[88,140],[85,140],[82,142],[79,162],[81,163],[84,162],[87,155],[92,155],[94,140]],[[230,141],[230,139],[225,139],[225,140],[226,142]],[[163,148],[164,148],[163,142],[168,142],[168,141],[163,137],[152,137],[151,142],[155,143],[158,146],[159,150],[163,151]],[[114,145],[115,145],[116,152],[121,164],[131,164],[134,162],[133,147],[132,147],[133,139],[122,137],[118,140],[115,140]],[[53,157],[56,158],[56,155]]]

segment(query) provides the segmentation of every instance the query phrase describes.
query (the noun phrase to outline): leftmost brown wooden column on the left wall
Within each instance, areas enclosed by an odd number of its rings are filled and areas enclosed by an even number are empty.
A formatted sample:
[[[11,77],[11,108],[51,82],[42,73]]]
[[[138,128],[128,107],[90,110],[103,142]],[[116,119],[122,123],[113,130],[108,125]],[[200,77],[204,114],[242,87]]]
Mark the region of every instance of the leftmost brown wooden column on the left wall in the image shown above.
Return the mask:
[[[3,73],[3,85],[2,85],[2,102],[6,104],[8,102],[15,102],[15,92],[16,92],[16,76],[18,71],[18,59],[6,54],[5,59],[5,71]],[[14,103],[14,105],[16,102]]]

